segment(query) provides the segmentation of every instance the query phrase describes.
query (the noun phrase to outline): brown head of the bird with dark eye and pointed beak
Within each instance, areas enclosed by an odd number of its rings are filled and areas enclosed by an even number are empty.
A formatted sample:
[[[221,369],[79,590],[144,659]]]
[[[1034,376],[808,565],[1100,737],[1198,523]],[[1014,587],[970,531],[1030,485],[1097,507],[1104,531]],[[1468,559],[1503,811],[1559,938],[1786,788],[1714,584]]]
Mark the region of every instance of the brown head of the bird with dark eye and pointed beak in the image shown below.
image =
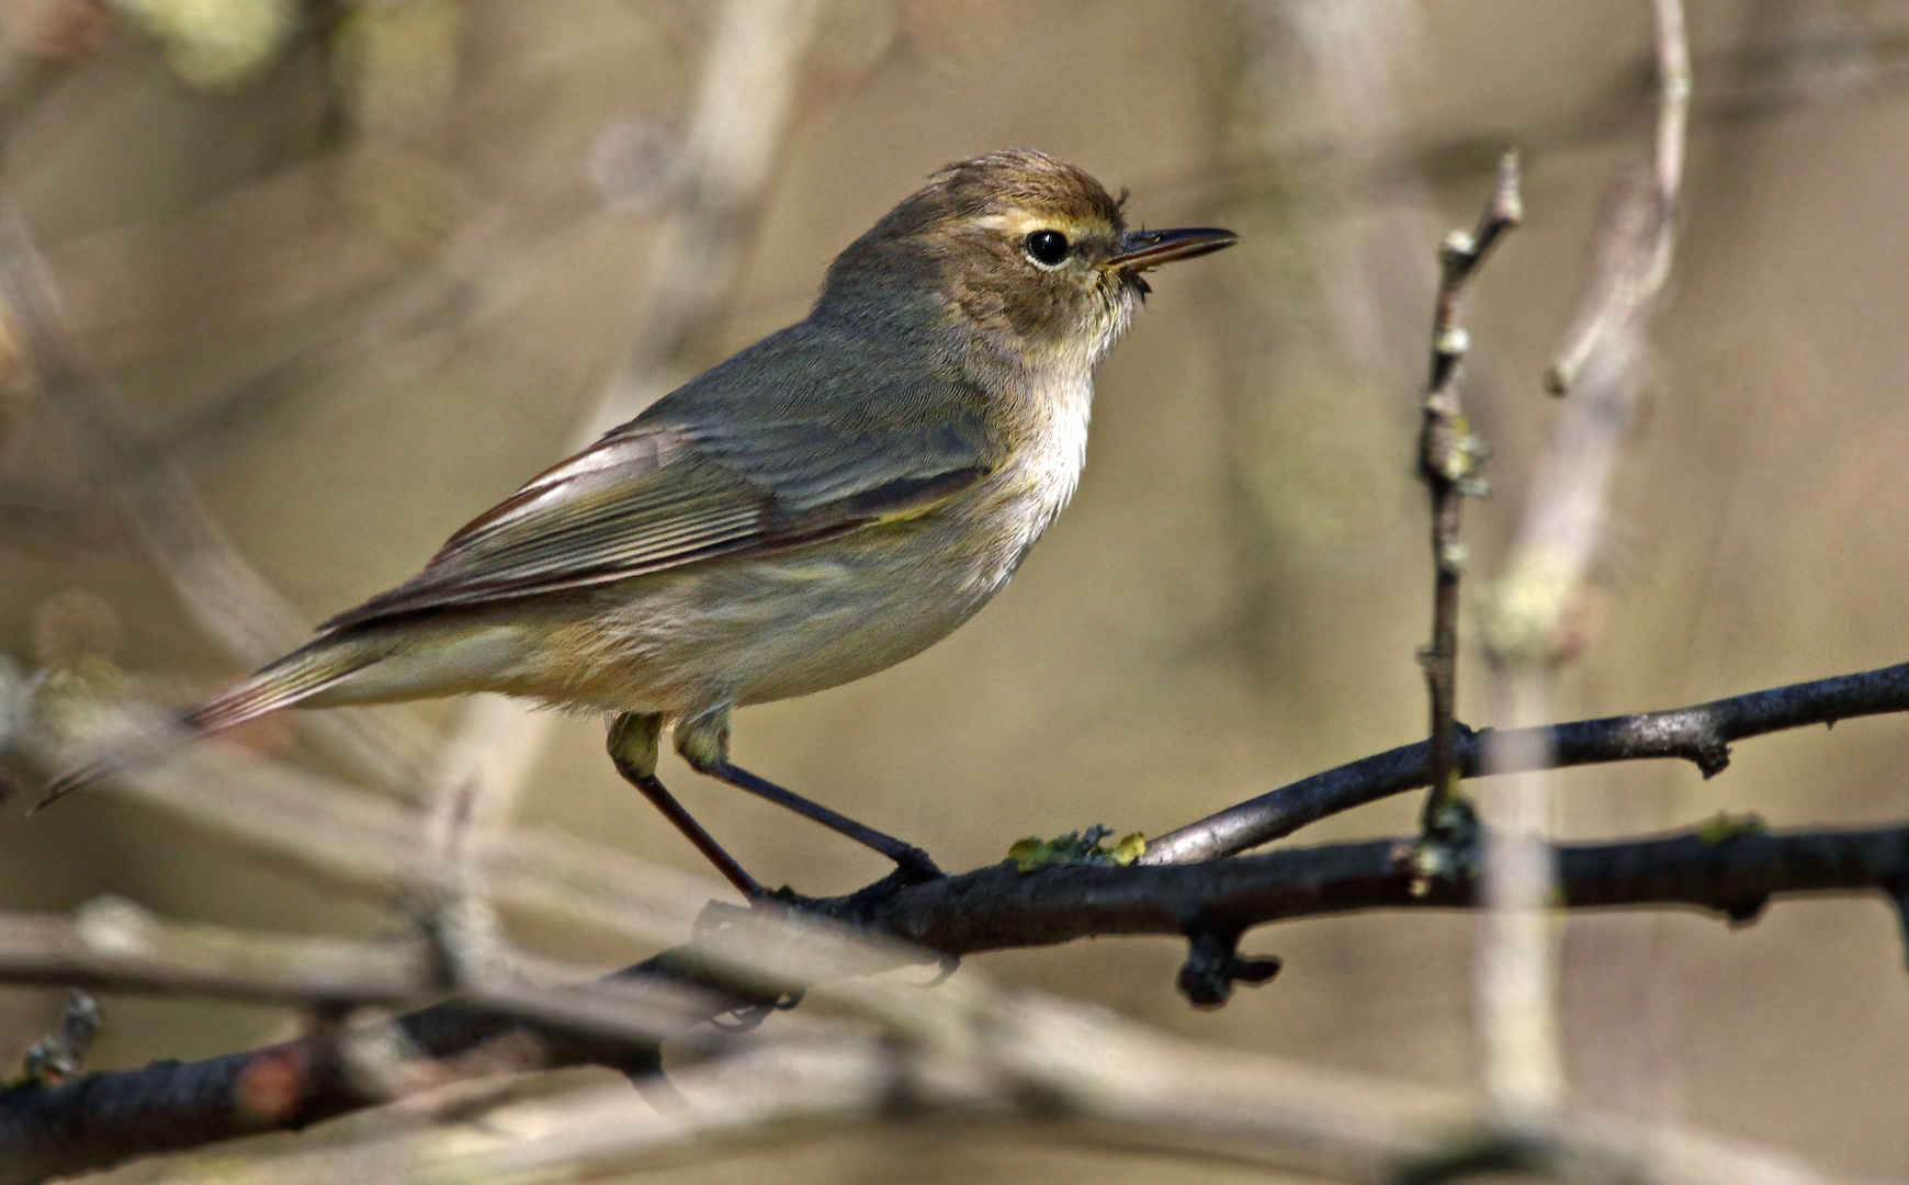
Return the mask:
[[[1218,229],[1128,231],[1122,200],[1031,149],[951,164],[836,258],[817,315],[953,328],[1025,364],[1092,366],[1145,296],[1143,271],[1235,242]]]

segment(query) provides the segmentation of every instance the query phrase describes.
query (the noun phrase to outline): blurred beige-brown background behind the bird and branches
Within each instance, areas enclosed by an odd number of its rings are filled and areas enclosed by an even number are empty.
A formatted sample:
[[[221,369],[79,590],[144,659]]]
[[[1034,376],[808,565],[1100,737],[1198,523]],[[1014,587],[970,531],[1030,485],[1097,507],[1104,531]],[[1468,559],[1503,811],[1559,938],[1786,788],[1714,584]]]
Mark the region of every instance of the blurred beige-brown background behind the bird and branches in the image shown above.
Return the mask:
[[[94,46],[59,25],[88,6],[0,6],[13,76],[38,71],[0,92],[6,185],[84,355],[311,622],[409,576],[557,460],[624,364],[659,218],[645,162],[668,156],[710,32],[701,4],[420,4],[433,13],[389,44],[298,31],[225,90],[183,84],[139,31]],[[1680,256],[1588,647],[1563,679],[1569,717],[1909,653],[1909,6],[1695,0],[1689,19]],[[1432,248],[1476,218],[1497,149],[1520,145],[1527,225],[1470,315],[1468,403],[1497,456],[1468,540],[1489,578],[1560,410],[1541,374],[1583,292],[1600,197],[1649,151],[1649,61],[1644,2],[827,4],[701,363],[798,319],[836,250],[930,170],[995,147],[1130,187],[1149,225],[1247,239],[1155,281],[1101,372],[1080,492],[1014,586],[897,670],[739,714],[739,761],[968,868],[1027,834],[1157,834],[1416,738],[1430,572],[1411,450]],[[407,303],[420,277],[451,296]],[[141,687],[183,700],[237,674],[31,389],[0,393],[0,651],[32,668],[61,658],[61,628],[97,637],[80,590],[111,609],[111,656]],[[1468,662],[1460,716],[1491,723],[1489,672]],[[1563,832],[1720,809],[1775,826],[1896,821],[1905,759],[1909,729],[1882,717],[1741,744],[1712,782],[1682,765],[1575,771]],[[821,893],[882,872],[682,765],[664,777],[766,880]],[[1415,807],[1300,842],[1399,832]],[[0,813],[6,908],[113,891],[244,925],[389,924],[109,792],[21,811]],[[519,815],[704,874],[615,777],[594,719],[556,725]],[[519,937],[605,966],[643,954]],[[1174,941],[968,969],[1227,1046],[1466,1086],[1470,939],[1472,920],[1432,914],[1258,931],[1247,946],[1279,952],[1285,973],[1214,1013],[1174,992]],[[0,992],[0,1065],[57,1006]],[[183,1000],[107,1011],[99,1067],[286,1025]],[[1909,977],[1880,903],[1781,903],[1743,931],[1573,918],[1565,1027],[1575,1099],[1909,1175]],[[901,1158],[920,1181],[1239,1175],[934,1128],[773,1156],[779,1179],[890,1179]],[[764,1172],[737,1154],[655,1179]]]

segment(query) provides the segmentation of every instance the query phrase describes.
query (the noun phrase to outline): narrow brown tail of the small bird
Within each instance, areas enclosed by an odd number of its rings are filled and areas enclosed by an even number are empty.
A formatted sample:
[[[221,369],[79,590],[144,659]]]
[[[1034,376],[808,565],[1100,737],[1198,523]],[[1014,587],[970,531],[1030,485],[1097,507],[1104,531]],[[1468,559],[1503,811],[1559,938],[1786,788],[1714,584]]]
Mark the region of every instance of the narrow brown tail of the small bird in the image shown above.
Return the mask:
[[[170,727],[149,731],[132,742],[118,742],[113,746],[113,752],[61,773],[48,782],[46,798],[32,809],[40,811],[48,803],[116,769],[124,769],[136,759],[170,752],[174,746],[199,740],[200,737],[223,733],[267,712],[290,708],[384,658],[386,653],[386,647],[368,645],[368,639],[349,634],[319,637],[311,645],[292,651],[258,674],[239,679],[212,698],[181,712],[172,719]]]

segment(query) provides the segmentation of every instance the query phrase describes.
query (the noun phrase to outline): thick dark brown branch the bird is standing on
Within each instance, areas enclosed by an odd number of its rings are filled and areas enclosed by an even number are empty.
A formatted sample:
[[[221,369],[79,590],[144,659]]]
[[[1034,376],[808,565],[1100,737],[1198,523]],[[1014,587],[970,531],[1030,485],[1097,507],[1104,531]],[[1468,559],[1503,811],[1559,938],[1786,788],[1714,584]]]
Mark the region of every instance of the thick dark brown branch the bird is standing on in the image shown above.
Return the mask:
[[[1768,693],[1766,693],[1768,695]],[[1422,746],[1420,746],[1422,748]],[[1088,935],[1178,935],[1187,918],[1243,931],[1287,918],[1374,908],[1462,908],[1470,880],[1426,884],[1415,840],[1287,849],[1189,866],[1077,866],[1035,874],[1008,864],[893,889],[804,903],[806,910],[909,939],[943,956],[1046,946]],[[1691,906],[1743,922],[1772,895],[1882,893],[1909,887],[1909,826],[1800,832],[1678,834],[1560,851],[1571,908]],[[739,985],[703,956],[708,939],[620,971],[620,979],[714,990],[708,1013],[762,1004],[775,987]],[[794,985],[783,985],[783,988]],[[643,1040],[554,1030],[441,1004],[397,1021],[418,1055],[445,1072],[609,1065],[641,1074],[657,1065]],[[384,1103],[368,1091],[330,1034],[179,1065],[103,1072],[0,1095],[0,1185],[105,1168],[136,1156],[292,1130]]]

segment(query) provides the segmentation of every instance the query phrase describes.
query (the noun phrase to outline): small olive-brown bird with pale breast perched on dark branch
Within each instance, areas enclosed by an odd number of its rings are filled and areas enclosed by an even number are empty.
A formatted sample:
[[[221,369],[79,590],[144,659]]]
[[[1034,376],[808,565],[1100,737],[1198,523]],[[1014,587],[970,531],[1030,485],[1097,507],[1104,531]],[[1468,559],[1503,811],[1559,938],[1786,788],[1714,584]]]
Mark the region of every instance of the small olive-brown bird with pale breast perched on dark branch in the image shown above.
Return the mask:
[[[918,655],[1008,582],[1086,460],[1094,368],[1149,267],[1231,231],[1128,231],[1094,177],[951,164],[836,256],[808,319],[710,366],[458,530],[405,584],[183,714],[502,693],[613,714],[609,754],[746,897],[657,779],[699,773],[939,876],[928,855],[729,761],[729,712]],[[59,777],[48,800],[99,777]]]

